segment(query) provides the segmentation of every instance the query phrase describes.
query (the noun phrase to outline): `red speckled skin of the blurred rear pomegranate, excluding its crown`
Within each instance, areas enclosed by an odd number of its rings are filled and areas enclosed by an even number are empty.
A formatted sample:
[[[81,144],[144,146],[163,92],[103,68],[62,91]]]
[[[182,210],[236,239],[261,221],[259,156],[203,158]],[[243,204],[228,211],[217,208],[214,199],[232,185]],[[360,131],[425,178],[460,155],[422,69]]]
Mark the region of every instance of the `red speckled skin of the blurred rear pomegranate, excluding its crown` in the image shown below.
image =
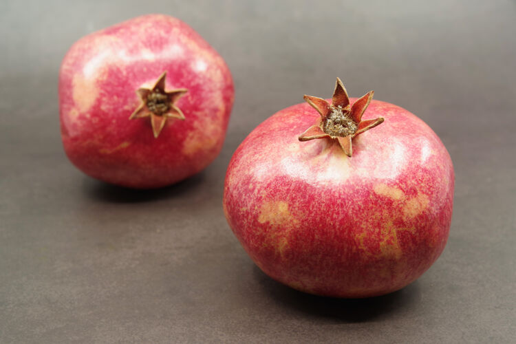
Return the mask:
[[[158,138],[149,118],[129,120],[136,89],[166,72],[166,89],[186,88]],[[67,156],[99,180],[156,188],[204,169],[218,155],[233,106],[230,71],[192,28],[150,14],[83,37],[59,74],[61,137]]]

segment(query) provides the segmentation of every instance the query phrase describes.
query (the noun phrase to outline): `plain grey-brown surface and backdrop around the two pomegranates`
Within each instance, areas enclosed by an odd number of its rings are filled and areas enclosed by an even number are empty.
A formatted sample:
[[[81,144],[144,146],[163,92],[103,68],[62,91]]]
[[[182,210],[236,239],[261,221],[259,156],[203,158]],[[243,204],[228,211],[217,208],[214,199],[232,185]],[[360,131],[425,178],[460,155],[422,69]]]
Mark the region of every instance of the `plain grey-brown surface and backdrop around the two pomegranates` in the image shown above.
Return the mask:
[[[359,3],[359,4],[358,4]],[[158,191],[87,178],[58,127],[80,36],[139,14],[189,23],[226,59],[224,149]],[[449,243],[385,297],[325,299],[264,275],[222,211],[231,154],[303,94],[417,114],[455,164]],[[514,1],[8,1],[0,12],[0,343],[509,343],[515,340]]]

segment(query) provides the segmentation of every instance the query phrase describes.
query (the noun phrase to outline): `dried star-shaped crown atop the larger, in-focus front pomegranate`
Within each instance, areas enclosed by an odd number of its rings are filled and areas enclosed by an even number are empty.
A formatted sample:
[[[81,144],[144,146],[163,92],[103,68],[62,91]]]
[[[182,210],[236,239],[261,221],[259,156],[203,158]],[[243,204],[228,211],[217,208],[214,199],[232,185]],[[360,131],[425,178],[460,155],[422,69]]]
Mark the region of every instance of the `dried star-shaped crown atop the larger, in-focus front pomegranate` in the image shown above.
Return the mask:
[[[344,153],[351,156],[352,138],[383,122],[381,117],[362,120],[362,115],[371,103],[373,94],[373,91],[368,92],[350,107],[350,98],[347,96],[346,89],[341,79],[337,78],[331,105],[323,98],[305,95],[303,98],[319,112],[321,118],[299,136],[299,141],[330,138],[336,140]]]

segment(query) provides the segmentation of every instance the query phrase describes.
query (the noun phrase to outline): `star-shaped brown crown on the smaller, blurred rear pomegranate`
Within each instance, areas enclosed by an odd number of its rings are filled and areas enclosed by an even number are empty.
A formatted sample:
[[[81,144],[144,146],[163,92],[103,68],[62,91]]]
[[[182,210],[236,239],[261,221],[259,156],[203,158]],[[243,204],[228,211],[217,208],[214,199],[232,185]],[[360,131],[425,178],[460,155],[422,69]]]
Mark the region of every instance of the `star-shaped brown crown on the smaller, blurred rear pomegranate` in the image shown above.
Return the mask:
[[[136,91],[142,103],[129,117],[130,120],[150,117],[155,138],[160,135],[167,118],[184,120],[184,114],[175,102],[188,90],[180,88],[166,91],[165,77],[166,72],[163,72],[152,88],[142,87]]]

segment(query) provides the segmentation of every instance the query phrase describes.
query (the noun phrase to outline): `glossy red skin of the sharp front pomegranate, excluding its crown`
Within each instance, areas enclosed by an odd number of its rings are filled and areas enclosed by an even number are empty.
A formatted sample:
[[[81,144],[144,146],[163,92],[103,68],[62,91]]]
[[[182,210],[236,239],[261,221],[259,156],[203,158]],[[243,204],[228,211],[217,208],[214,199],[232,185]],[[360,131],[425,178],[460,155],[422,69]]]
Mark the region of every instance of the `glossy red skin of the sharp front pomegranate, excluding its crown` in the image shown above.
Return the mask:
[[[385,122],[354,138],[351,158],[332,140],[299,142],[319,118],[306,103],[268,118],[235,151],[224,212],[267,275],[312,294],[373,297],[439,257],[453,206],[450,156],[409,111],[373,100],[363,118],[378,116]]]

